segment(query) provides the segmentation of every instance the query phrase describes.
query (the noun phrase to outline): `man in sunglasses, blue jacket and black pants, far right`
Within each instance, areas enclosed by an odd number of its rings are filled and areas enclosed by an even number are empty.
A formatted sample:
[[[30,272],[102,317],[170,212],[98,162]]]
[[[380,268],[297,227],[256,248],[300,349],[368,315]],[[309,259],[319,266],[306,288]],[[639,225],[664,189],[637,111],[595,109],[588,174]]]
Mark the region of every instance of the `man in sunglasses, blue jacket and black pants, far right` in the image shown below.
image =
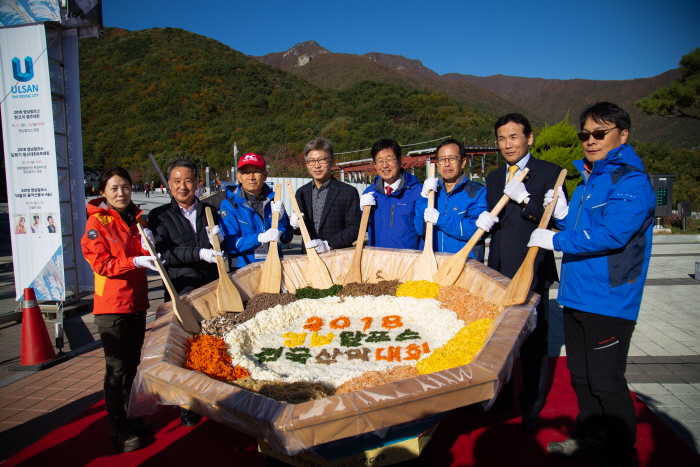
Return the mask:
[[[528,244],[564,252],[558,301],[579,406],[574,435],[547,450],[628,466],[637,431],[625,365],[651,258],[655,196],[627,144],[627,112],[599,102],[583,111],[580,124],[584,159],[574,165],[583,181],[570,206],[557,200],[562,231],[537,229]]]

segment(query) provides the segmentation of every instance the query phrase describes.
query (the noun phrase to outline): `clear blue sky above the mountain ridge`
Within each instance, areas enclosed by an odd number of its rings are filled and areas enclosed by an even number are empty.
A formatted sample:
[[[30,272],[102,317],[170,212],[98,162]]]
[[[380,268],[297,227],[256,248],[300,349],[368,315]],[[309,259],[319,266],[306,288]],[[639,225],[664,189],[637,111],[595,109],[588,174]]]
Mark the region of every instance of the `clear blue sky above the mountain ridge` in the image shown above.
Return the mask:
[[[314,40],[439,74],[648,78],[700,47],[700,0],[104,0],[105,26],[175,27],[247,55]]]

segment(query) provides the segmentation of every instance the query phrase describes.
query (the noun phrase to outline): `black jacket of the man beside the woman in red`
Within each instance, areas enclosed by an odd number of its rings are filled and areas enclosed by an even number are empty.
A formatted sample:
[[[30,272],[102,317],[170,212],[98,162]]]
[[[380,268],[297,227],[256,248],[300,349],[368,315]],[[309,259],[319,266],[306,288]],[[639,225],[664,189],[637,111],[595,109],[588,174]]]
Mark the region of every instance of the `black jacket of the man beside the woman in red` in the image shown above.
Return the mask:
[[[196,234],[174,199],[170,204],[158,206],[148,216],[148,225],[156,240],[156,251],[165,260],[168,276],[178,293],[196,289],[219,278],[216,264],[199,259],[199,250],[212,248],[205,229],[207,206],[211,208],[214,224],[219,224],[216,208],[200,201],[197,205]]]

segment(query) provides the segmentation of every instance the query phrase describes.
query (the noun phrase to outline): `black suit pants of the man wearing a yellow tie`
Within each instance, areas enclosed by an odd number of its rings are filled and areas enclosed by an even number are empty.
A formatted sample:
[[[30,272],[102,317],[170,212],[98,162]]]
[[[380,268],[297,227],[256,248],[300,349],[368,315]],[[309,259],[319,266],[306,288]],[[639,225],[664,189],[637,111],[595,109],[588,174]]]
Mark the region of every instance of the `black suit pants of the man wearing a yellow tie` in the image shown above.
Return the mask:
[[[547,376],[549,374],[549,289],[535,291],[540,295],[537,304],[535,329],[520,346],[520,365],[523,370],[523,392],[518,399],[524,414],[540,413],[547,402]],[[513,403],[513,380],[501,389],[498,404]]]

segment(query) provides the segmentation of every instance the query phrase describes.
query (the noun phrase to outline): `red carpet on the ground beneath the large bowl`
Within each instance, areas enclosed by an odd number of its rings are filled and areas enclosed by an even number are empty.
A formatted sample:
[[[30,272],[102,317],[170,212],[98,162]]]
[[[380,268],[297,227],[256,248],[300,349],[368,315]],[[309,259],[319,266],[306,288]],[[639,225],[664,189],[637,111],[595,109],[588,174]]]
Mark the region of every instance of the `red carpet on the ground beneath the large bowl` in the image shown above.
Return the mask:
[[[518,409],[479,415],[469,409],[459,409],[443,419],[421,457],[421,465],[591,465],[561,461],[552,458],[545,450],[549,441],[568,437],[576,416],[576,399],[569,384],[566,359],[553,358],[551,364],[552,369],[556,366],[556,371],[547,406],[542,412],[541,429],[537,433],[527,434],[520,430]],[[518,380],[516,375],[516,382]],[[640,467],[700,465],[700,456],[636,397],[635,405],[637,462]],[[194,428],[183,428],[178,416],[178,410],[164,408],[154,416],[146,417],[156,430],[148,446],[117,455],[109,442],[109,423],[104,402],[101,402],[11,457],[3,467],[265,465],[254,438],[206,419]]]

